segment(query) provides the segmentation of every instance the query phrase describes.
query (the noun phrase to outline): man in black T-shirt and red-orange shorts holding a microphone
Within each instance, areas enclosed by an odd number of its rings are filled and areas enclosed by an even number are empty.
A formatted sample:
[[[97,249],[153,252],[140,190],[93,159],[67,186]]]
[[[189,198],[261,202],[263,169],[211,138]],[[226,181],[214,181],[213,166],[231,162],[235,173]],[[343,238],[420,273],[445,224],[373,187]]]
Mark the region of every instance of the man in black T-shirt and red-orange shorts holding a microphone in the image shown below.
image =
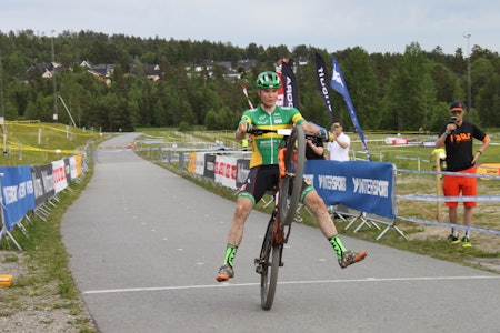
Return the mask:
[[[466,114],[466,105],[460,101],[450,104],[451,121],[442,127],[439,138],[436,140],[436,148],[443,147],[447,151],[447,171],[457,173],[476,173],[476,162],[484,152],[490,138],[477,125],[463,121]],[[480,140],[481,147],[473,152],[472,139]],[[442,189],[446,196],[477,195],[476,178],[444,175]],[[457,206],[458,202],[447,202],[450,222],[457,224]],[[463,202],[463,224],[470,226],[472,224],[472,208],[476,202]],[[451,228],[451,234],[448,236],[451,244],[462,243],[463,248],[472,246],[469,239],[469,230],[460,240],[458,230]]]

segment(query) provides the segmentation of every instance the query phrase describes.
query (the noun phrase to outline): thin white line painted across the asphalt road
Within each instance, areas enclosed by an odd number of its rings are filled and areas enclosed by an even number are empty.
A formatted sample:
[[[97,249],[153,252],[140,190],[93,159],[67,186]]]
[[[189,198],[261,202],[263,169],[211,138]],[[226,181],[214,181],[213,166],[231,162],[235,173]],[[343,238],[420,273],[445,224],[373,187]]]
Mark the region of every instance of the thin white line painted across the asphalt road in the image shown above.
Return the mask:
[[[317,281],[283,281],[278,284],[320,284],[320,283],[349,283],[349,282],[388,282],[388,281],[440,281],[440,280],[480,280],[480,279],[500,279],[500,275],[476,275],[476,276],[417,276],[417,278],[366,278],[354,280],[317,280]],[[219,284],[206,285],[178,285],[178,286],[156,286],[156,287],[130,287],[130,289],[108,289],[108,290],[89,290],[83,294],[110,294],[110,293],[128,293],[128,292],[149,292],[149,291],[177,291],[177,290],[194,290],[194,289],[213,289],[213,287],[237,287],[237,286],[256,286],[260,283],[238,283],[228,282]]]

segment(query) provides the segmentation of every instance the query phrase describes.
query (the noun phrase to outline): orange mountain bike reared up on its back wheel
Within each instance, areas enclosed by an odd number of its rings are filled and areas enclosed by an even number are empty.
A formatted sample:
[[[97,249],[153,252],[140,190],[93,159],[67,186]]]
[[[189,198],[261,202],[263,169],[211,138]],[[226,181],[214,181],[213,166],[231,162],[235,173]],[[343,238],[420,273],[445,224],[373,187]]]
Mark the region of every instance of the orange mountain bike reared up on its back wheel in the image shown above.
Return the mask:
[[[293,128],[284,148],[279,152],[280,180],[274,189],[274,208],[260,255],[254,260],[256,272],[260,274],[260,300],[263,310],[270,310],[274,301],[278,271],[283,265],[283,248],[290,236],[291,223],[302,192],[304,160],[306,134],[298,125]]]

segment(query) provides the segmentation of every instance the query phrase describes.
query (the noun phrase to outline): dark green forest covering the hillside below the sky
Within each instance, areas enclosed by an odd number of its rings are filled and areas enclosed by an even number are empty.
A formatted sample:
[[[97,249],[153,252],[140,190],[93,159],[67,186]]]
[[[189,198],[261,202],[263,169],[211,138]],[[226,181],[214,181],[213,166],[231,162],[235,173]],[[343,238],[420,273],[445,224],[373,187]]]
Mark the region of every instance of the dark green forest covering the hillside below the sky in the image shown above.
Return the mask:
[[[180,130],[234,129],[249,108],[241,84],[257,103],[254,79],[274,70],[279,59],[296,61],[300,111],[306,119],[328,127],[328,110],[318,92],[316,53],[331,70],[331,54],[313,46],[246,48],[229,42],[166,40],[108,36],[94,31],[63,31],[58,36],[32,30],[0,31],[1,115],[7,121],[40,120],[102,131],[171,127]],[[367,131],[434,132],[449,120],[448,105],[462,100],[467,120],[486,128],[500,128],[500,58],[497,51],[473,46],[470,54],[457,48],[444,54],[438,46],[422,50],[411,42],[400,53],[368,53],[362,46],[333,52],[340,63],[361,128]],[[194,67],[210,61],[257,60],[250,70],[226,68],[210,72]],[[113,64],[110,84],[97,80],[83,61]],[[53,78],[42,78],[39,63],[61,64]],[[138,74],[147,64],[160,68],[160,80]],[[130,68],[136,68],[136,74]],[[331,73],[331,71],[330,71]],[[331,90],[336,119],[352,131],[343,97]],[[64,101],[66,105],[61,104]],[[472,108],[469,108],[472,104]],[[64,111],[67,109],[69,112]],[[58,118],[54,120],[53,113]],[[72,117],[70,117],[72,115]]]

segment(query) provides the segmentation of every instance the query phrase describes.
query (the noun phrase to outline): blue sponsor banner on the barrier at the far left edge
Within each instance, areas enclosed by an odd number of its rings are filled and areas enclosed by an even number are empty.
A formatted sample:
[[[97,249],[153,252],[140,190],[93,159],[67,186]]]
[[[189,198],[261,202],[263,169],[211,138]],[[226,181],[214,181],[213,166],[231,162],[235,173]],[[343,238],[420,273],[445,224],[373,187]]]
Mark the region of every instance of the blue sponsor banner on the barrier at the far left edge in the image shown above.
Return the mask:
[[[0,167],[3,223],[12,230],[27,212],[34,209],[31,167]]]

